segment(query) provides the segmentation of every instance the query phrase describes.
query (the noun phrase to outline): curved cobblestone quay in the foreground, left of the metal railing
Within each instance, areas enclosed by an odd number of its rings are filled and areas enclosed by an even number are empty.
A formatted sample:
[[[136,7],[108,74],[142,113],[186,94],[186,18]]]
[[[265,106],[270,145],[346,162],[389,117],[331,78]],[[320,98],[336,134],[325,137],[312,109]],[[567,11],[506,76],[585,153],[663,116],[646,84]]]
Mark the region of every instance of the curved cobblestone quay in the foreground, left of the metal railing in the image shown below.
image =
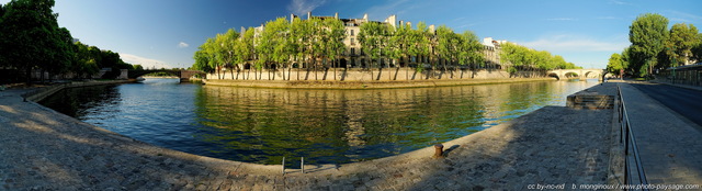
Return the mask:
[[[597,86],[609,92],[614,86]],[[599,89],[599,90],[597,90]],[[612,91],[613,92],[613,91]],[[281,166],[159,148],[0,91],[0,190],[525,190],[607,183],[612,110],[546,106],[433,148]]]

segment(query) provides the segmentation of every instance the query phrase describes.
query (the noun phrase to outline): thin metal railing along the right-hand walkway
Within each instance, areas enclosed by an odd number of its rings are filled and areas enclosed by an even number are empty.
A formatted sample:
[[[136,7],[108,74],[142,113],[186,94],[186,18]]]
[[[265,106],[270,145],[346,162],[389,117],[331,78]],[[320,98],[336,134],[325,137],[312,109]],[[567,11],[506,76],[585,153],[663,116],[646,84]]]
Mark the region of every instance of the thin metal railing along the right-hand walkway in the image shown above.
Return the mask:
[[[632,154],[634,154],[634,162],[636,162],[636,171],[638,175],[638,183],[639,184],[648,184],[646,180],[646,173],[644,172],[644,166],[641,165],[641,157],[638,155],[638,147],[636,146],[636,138],[634,138],[634,132],[631,128],[631,124],[629,123],[629,114],[626,112],[626,103],[624,102],[624,97],[622,97],[622,89],[616,86],[616,91],[619,96],[619,122],[620,126],[620,143],[624,142],[624,184],[632,184],[632,175],[630,175],[630,164],[632,162],[629,158],[630,149]],[[631,145],[631,148],[630,148]],[[643,189],[648,190],[648,189]]]

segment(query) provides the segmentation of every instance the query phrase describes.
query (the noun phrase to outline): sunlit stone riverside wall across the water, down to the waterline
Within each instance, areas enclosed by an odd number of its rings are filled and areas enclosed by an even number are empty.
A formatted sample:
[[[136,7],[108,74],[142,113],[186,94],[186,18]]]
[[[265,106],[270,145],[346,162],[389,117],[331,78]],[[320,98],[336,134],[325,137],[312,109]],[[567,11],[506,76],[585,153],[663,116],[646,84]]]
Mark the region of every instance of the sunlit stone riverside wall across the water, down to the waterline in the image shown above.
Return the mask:
[[[283,78],[283,76],[285,78]],[[288,80],[290,79],[290,80]],[[531,82],[556,80],[543,71],[520,71],[509,74],[503,70],[423,70],[414,68],[337,68],[308,70],[239,70],[208,74],[206,85],[254,88],[302,88],[302,89],[377,89],[377,88],[421,88],[485,83]]]

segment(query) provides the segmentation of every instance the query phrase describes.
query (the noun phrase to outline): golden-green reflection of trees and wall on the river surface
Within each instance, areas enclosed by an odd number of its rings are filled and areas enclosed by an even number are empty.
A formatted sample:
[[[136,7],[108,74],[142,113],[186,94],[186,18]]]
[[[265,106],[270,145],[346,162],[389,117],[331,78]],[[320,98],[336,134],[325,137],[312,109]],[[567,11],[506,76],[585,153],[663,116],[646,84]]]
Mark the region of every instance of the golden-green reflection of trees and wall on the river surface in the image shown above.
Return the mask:
[[[199,134],[246,161],[282,156],[343,164],[406,153],[457,138],[543,105],[593,82],[531,82],[385,90],[285,90],[204,87]]]

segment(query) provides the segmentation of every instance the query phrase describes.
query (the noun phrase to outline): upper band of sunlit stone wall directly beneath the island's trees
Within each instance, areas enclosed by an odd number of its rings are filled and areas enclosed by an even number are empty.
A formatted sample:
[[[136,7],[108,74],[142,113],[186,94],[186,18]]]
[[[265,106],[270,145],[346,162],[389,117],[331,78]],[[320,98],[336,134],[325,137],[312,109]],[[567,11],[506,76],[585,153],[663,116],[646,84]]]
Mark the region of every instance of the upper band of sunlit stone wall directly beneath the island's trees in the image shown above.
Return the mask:
[[[285,78],[283,78],[283,76]],[[415,68],[328,68],[313,69],[280,69],[280,70],[224,70],[219,74],[208,74],[207,79],[228,80],[280,80],[280,81],[407,81],[407,80],[456,80],[456,79],[495,79],[495,78],[545,78],[544,71],[519,71],[511,75],[499,69],[483,70],[422,70]],[[290,79],[290,80],[287,80]]]

